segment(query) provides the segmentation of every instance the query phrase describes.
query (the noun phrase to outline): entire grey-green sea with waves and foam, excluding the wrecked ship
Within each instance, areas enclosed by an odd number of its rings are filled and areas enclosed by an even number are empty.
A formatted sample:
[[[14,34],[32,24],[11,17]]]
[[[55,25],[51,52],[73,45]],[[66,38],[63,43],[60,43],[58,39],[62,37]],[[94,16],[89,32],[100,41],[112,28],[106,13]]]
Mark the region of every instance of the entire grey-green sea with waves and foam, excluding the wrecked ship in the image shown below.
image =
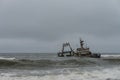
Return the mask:
[[[120,54],[0,53],[0,80],[120,80]]]

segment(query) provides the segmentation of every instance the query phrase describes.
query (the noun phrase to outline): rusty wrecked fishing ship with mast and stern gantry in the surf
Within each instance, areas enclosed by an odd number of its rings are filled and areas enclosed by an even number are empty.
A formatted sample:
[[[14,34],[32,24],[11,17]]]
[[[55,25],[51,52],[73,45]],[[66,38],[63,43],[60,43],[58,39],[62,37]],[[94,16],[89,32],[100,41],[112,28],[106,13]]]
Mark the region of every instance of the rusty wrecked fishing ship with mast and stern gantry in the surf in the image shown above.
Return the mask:
[[[65,47],[69,47],[69,50],[65,51]],[[91,57],[91,58],[100,58],[101,54],[92,53],[90,48],[84,47],[84,41],[80,39],[80,48],[77,48],[75,51],[72,49],[69,42],[63,43],[62,50],[58,52],[58,57]]]

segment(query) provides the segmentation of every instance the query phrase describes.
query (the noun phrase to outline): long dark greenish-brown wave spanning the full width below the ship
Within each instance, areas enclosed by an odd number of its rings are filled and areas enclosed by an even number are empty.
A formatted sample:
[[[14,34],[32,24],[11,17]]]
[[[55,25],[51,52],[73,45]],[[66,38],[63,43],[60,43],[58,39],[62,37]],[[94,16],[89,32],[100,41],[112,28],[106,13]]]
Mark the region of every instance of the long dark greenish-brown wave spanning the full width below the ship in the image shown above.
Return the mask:
[[[68,59],[68,60],[29,60],[29,59],[0,59],[1,68],[48,68],[48,67],[79,67],[91,65],[120,64],[120,59]]]

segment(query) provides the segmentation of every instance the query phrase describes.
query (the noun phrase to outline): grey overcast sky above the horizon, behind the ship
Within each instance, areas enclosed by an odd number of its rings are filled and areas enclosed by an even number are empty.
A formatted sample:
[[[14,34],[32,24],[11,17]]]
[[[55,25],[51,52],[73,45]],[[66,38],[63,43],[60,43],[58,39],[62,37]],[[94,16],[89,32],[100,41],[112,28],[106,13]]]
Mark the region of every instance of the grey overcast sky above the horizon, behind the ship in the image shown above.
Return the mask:
[[[63,42],[120,52],[119,0],[0,0],[0,53],[57,52]]]

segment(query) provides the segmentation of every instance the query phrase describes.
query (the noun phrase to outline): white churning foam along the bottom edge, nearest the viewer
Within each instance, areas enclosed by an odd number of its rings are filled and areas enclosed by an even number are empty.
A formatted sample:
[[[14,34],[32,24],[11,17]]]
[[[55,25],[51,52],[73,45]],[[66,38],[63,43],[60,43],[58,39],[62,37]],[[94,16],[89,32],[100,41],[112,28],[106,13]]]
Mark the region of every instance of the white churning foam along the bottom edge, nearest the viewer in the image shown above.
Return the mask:
[[[13,76],[13,73],[0,74],[0,80],[120,80],[120,68],[105,68],[94,71],[73,71],[69,74],[45,76]]]

